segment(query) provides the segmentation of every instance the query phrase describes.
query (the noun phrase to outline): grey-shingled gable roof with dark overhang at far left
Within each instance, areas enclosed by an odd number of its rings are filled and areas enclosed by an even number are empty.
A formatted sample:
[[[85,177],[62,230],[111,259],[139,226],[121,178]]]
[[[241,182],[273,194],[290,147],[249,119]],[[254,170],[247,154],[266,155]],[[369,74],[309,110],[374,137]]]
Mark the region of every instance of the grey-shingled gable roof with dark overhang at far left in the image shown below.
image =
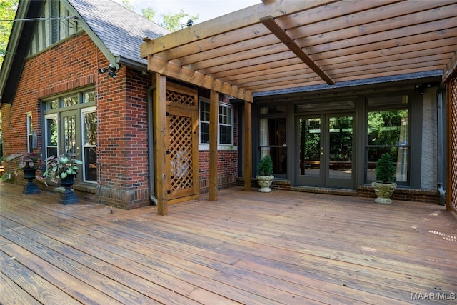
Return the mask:
[[[60,0],[76,16],[111,64],[146,70],[139,47],[146,36],[157,38],[169,30],[111,0]],[[20,0],[15,19],[38,18],[44,0]],[[36,21],[14,21],[0,73],[0,102],[11,103],[21,78]]]

